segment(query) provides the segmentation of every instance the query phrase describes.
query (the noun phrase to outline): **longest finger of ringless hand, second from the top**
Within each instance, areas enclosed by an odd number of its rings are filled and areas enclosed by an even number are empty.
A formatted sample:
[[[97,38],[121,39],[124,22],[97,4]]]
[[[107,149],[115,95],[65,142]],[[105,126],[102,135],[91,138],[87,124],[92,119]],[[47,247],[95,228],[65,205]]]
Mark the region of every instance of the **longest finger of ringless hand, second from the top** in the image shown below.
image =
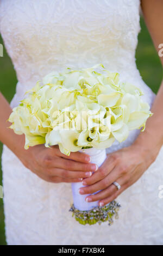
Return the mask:
[[[51,167],[82,172],[95,172],[98,169],[98,166],[95,163],[80,163],[60,157],[55,158],[55,161],[52,159]]]

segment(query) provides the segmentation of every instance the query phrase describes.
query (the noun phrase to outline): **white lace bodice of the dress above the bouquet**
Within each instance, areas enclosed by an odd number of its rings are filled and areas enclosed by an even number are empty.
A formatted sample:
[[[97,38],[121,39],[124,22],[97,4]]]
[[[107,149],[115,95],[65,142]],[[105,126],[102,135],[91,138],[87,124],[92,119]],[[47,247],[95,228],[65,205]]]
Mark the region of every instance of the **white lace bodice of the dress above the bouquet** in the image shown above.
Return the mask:
[[[125,79],[137,75],[139,7],[139,0],[1,0],[0,31],[23,84],[18,93],[67,66],[103,63]]]

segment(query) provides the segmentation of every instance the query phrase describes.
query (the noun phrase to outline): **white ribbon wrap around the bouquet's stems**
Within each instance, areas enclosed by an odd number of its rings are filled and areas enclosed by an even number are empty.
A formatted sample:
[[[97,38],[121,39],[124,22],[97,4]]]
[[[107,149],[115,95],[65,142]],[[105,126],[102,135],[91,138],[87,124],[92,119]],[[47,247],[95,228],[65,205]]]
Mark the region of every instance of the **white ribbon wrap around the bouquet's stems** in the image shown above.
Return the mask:
[[[82,149],[80,152],[83,152],[87,155],[91,156],[91,163],[96,163],[98,167],[102,165],[102,163],[106,159],[106,150],[105,149]],[[85,198],[90,194],[79,194],[79,188],[84,187],[82,182],[74,182],[72,183],[72,194],[73,194],[73,204],[74,207],[80,211],[89,211],[92,208],[98,206],[98,201],[96,202],[86,202]],[[96,192],[97,193],[97,192]]]

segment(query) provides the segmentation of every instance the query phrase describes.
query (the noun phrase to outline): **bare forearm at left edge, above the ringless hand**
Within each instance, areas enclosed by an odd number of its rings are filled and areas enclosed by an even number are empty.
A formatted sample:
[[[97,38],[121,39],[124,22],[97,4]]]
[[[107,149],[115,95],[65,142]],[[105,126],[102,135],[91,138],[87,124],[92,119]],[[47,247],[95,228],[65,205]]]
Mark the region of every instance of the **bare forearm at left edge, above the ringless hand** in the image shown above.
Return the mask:
[[[24,151],[24,135],[16,135],[12,129],[8,127],[11,123],[8,120],[11,114],[11,107],[8,101],[0,93],[0,141],[7,145],[7,147],[14,152],[17,156]]]

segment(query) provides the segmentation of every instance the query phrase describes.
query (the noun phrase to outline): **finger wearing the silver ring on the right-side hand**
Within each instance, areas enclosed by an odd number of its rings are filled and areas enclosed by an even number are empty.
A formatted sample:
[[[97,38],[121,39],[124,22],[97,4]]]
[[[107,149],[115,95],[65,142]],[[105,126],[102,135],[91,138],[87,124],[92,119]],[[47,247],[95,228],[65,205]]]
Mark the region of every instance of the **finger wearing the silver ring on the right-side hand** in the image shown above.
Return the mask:
[[[121,184],[121,186],[123,186],[123,184],[125,184],[125,181],[123,180],[123,178],[118,179],[117,180],[118,184]],[[102,200],[106,197],[110,197],[112,194],[117,192],[117,187],[114,184],[111,184],[109,187],[105,188],[102,191],[99,191],[96,194],[92,194],[91,196],[88,196],[85,198],[86,202],[93,202],[93,201],[98,201],[98,200]]]

